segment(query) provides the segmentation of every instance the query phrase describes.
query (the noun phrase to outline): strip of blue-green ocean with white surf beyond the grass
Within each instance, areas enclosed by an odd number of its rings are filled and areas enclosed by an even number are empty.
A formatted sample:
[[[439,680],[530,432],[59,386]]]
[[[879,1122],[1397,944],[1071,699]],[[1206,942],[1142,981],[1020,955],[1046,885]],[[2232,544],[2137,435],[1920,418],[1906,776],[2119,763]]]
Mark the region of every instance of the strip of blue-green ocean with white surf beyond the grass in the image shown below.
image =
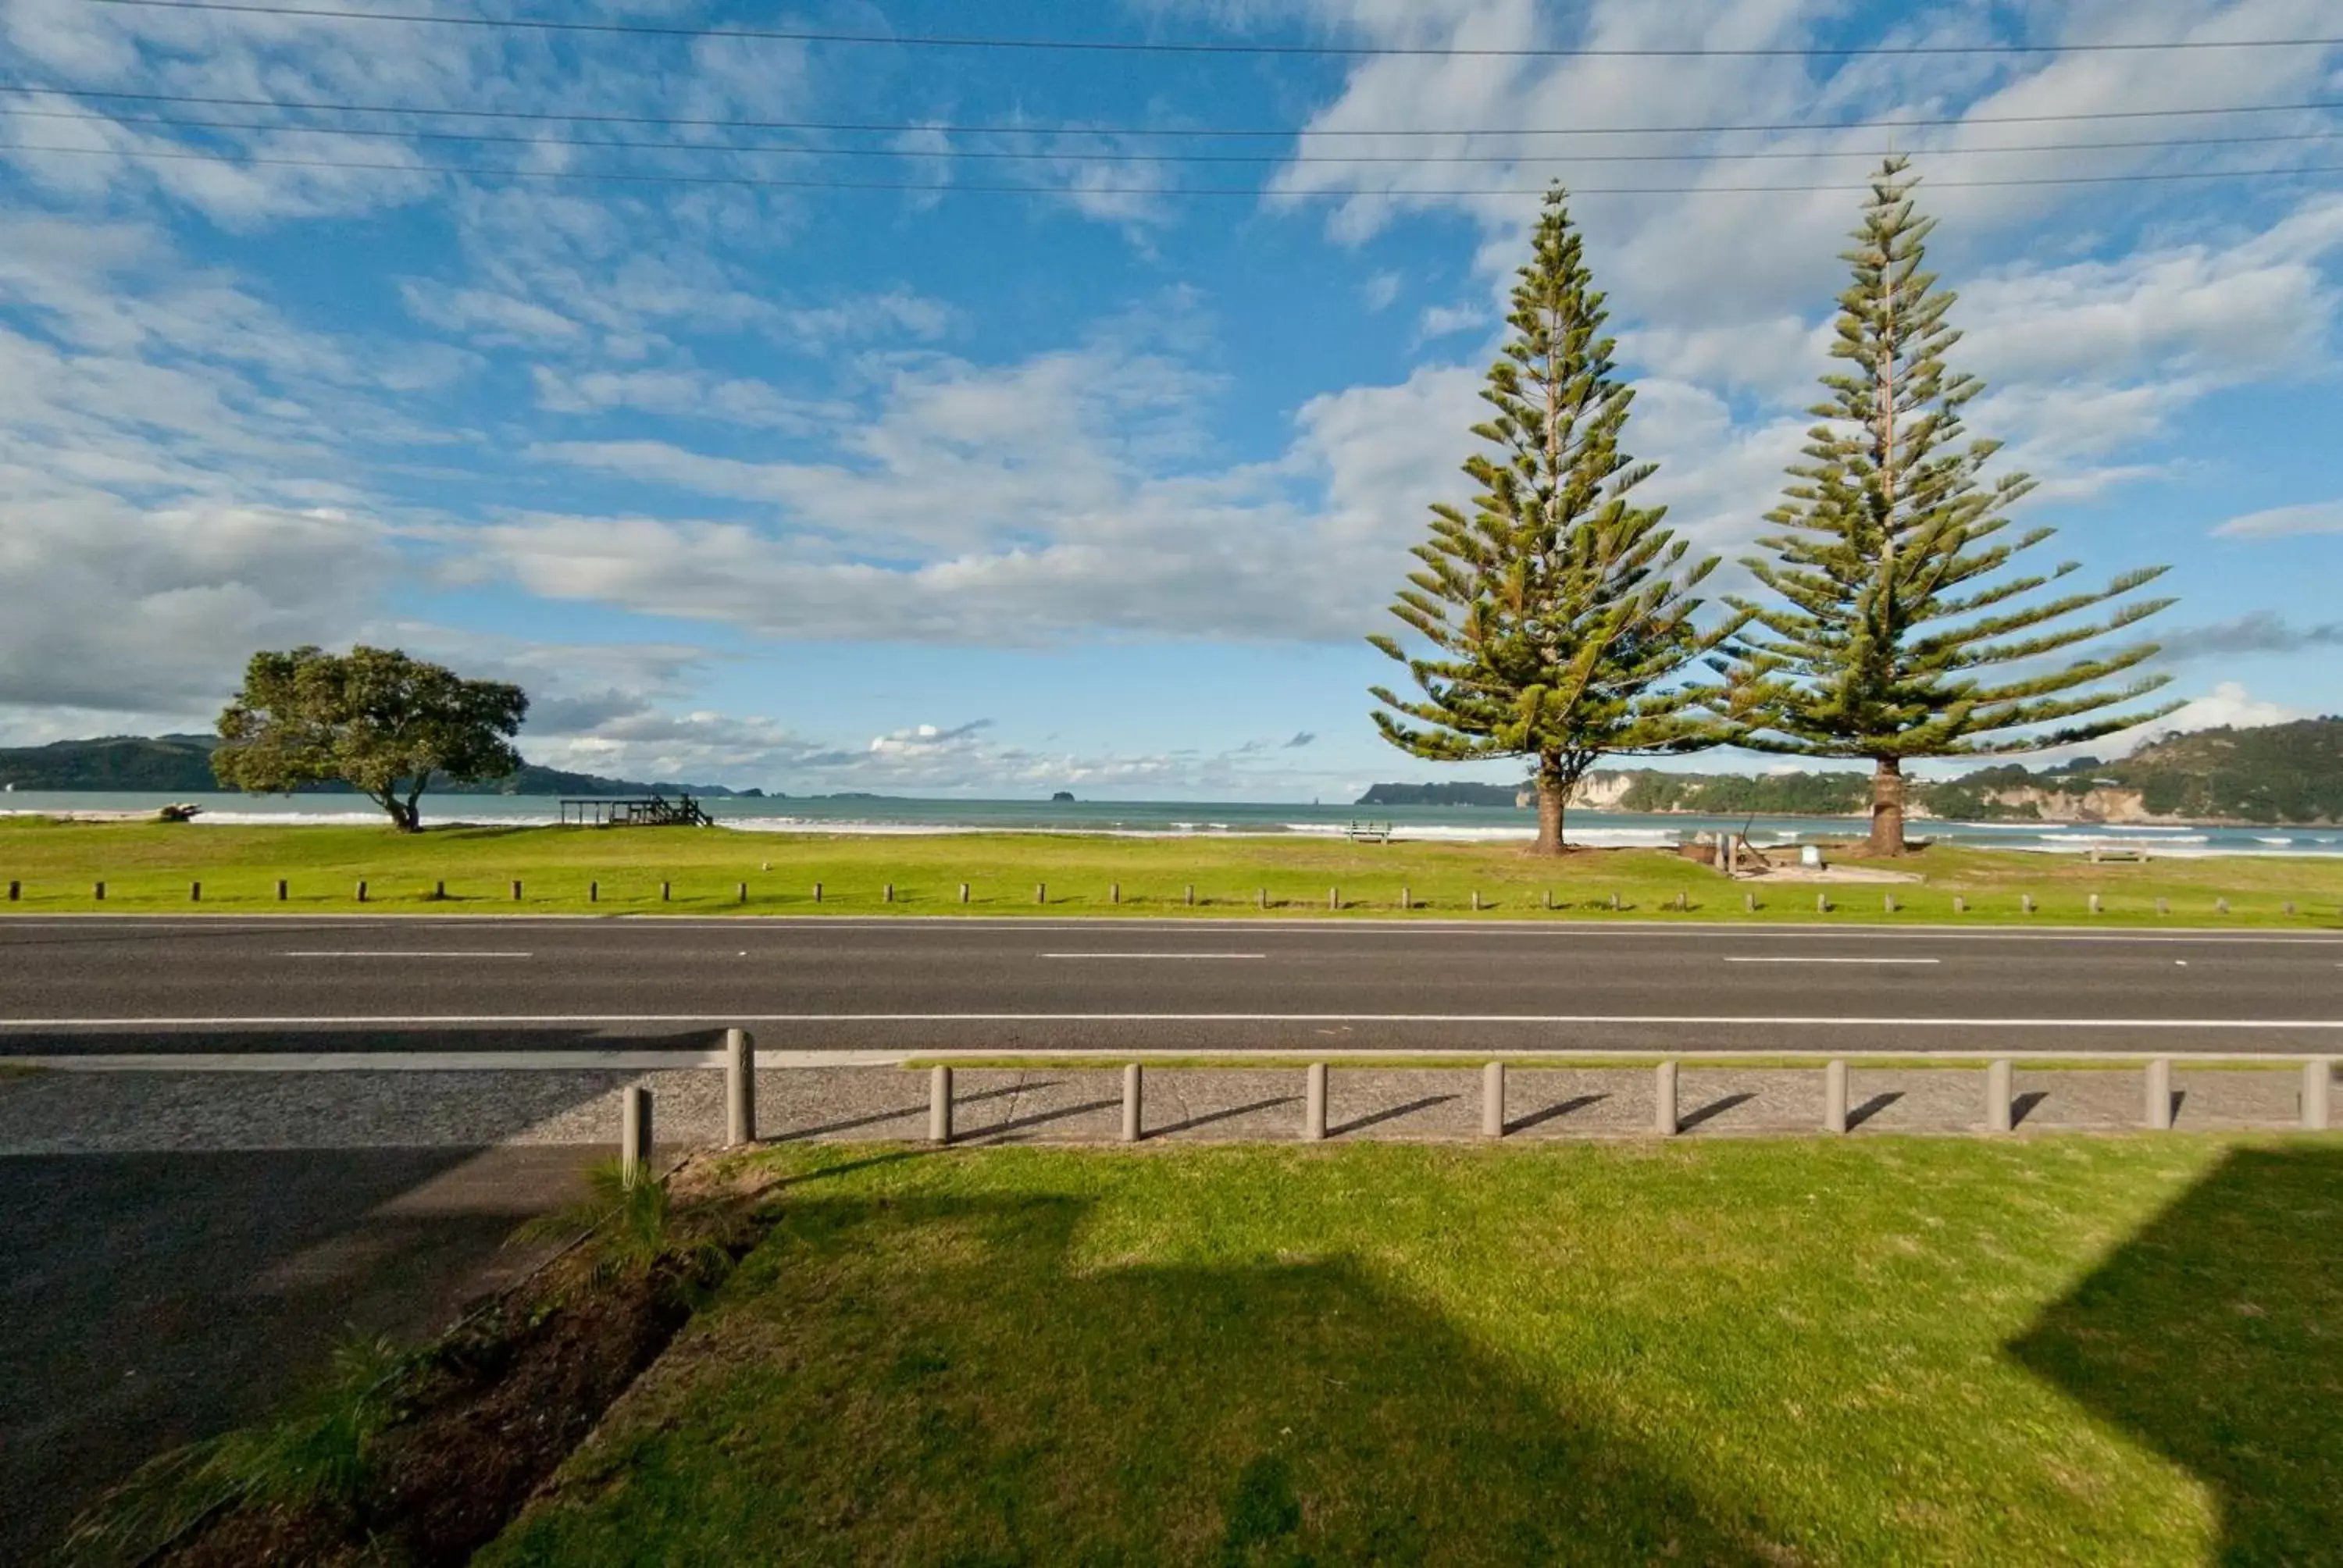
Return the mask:
[[[201,806],[204,823],[380,823],[356,795],[171,795],[110,790],[0,792],[0,816],[49,811],[150,813],[166,802]],[[1277,802],[1019,802],[1019,799],[710,799],[708,813],[740,832],[1092,832],[1181,834],[1326,834],[1352,823],[1389,823],[1401,839],[1530,839],[1530,811],[1492,806],[1296,806]],[[424,823],[558,823],[560,802],[539,795],[426,795]],[[1572,811],[1574,844],[1680,844],[1696,832],[1748,832],[1760,848],[1865,832],[1860,818],[1710,818],[1633,811]],[[2090,851],[2146,848],[2158,855],[2336,855],[2343,827],[2102,827],[2067,823],[1912,823],[1914,837],[1980,848]]]

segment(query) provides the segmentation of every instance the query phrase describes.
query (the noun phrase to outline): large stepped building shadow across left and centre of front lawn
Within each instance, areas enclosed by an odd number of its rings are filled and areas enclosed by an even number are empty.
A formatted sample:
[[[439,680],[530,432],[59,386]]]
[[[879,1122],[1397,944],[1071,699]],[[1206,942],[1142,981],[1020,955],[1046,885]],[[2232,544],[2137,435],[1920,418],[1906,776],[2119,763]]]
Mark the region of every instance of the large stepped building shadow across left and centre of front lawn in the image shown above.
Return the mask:
[[[1075,1266],[1085,1212],[785,1205],[478,1561],[1785,1561],[1347,1259]]]

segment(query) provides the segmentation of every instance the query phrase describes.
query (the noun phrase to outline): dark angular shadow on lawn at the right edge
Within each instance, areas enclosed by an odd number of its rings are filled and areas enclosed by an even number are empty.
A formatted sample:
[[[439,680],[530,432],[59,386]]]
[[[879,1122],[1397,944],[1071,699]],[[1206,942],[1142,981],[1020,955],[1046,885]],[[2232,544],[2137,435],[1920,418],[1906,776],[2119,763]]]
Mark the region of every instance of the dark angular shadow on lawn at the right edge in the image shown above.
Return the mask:
[[[2214,1491],[2221,1563],[2343,1542],[2343,1146],[2238,1148],[2010,1355]]]

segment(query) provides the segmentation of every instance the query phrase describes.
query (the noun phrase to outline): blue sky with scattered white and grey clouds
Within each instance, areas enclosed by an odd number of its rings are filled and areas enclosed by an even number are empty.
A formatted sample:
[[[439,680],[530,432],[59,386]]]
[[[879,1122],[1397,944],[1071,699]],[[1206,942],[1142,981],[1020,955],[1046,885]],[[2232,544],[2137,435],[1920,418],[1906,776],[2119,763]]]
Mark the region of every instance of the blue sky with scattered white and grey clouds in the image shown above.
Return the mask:
[[[2320,141],[2343,113],[2130,117],[2343,101],[2343,49],[1802,54],[2343,33],[2320,0],[375,9],[1776,54],[0,0],[0,741],[206,727],[253,647],[370,640],[520,680],[532,759],[635,778],[1340,799],[1434,776],[1375,738],[1364,635],[1425,506],[1469,497],[1521,192],[1589,192],[1628,448],[1729,558],[1828,366],[1860,197],[1816,188],[1888,138],[1832,127],[1907,117],[1949,122],[1893,145],[1942,220],[1956,363],[1992,384],[1970,424],[2043,480],[2045,551],[2177,567],[2181,722],[2343,710],[2343,141]],[[1687,124],[1802,129],[1525,134]],[[1457,127],[1500,134],[1408,136]],[[2202,145],[2245,136],[2294,141]],[[2200,145],[2043,145],[2158,138]],[[1129,159],[1162,152],[1258,162]],[[2221,178],[1973,185],[2170,171]],[[694,183],[544,178],[583,173]]]

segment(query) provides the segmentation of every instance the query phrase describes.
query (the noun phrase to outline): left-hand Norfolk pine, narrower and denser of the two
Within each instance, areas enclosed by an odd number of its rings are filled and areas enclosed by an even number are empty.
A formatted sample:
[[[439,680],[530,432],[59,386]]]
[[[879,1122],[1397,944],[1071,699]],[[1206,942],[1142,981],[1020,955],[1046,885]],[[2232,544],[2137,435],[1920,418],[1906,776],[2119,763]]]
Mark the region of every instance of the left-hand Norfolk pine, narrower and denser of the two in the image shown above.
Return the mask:
[[[1481,398],[1497,417],[1464,473],[1474,511],[1432,509],[1392,614],[1432,654],[1368,638],[1408,666],[1420,701],[1373,687],[1385,741],[1434,762],[1535,759],[1537,853],[1563,853],[1570,790],[1605,755],[1666,755],[1722,734],[1675,677],[1731,626],[1699,630],[1692,588],[1715,558],[1685,565],[1661,506],[1628,492],[1652,476],[1619,450],[1635,391],[1612,375],[1603,295],[1586,272],[1563,190],[1546,195],[1518,272],[1514,328]]]

